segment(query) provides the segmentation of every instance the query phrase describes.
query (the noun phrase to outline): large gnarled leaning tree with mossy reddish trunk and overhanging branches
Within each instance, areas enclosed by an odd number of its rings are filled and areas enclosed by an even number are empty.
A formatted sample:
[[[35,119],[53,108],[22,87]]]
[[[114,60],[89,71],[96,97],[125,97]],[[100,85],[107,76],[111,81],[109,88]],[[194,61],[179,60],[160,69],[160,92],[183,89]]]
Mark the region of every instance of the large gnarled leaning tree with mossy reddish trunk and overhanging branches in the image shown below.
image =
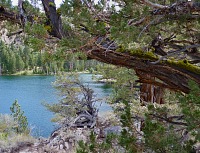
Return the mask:
[[[37,49],[58,44],[66,53],[84,52],[134,69],[144,101],[163,103],[165,89],[189,93],[189,80],[200,84],[199,0],[65,0],[60,8],[42,0],[42,5],[45,13],[30,11],[23,0],[18,12],[2,5],[0,20],[19,24],[10,35],[25,31]]]

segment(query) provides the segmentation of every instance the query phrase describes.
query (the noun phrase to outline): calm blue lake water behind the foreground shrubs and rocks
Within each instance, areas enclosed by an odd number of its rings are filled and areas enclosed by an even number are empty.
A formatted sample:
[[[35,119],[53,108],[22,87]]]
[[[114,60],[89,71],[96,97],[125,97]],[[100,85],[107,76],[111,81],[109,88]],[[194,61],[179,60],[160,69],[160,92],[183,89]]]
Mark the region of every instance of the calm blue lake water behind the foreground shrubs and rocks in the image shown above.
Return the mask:
[[[92,74],[81,74],[81,80],[94,90],[97,98],[103,98],[111,93],[111,88],[103,83],[92,80]],[[10,114],[10,106],[15,101],[21,106],[34,136],[48,137],[55,129],[50,120],[53,113],[49,112],[41,102],[57,102],[59,97],[52,87],[54,76],[0,76],[0,113]],[[100,106],[100,103],[97,103]],[[100,113],[110,111],[111,107],[102,103]]]

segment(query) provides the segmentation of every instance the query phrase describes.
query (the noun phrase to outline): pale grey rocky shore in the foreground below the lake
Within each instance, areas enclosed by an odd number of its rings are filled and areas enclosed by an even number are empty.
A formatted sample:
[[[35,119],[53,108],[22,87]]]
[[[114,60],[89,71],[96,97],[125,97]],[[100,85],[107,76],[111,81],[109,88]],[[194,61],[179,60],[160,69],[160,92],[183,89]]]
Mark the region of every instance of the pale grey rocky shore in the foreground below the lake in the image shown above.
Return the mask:
[[[98,117],[97,126],[70,127],[62,126],[52,132],[49,138],[38,138],[35,142],[18,142],[11,148],[0,149],[0,153],[75,153],[79,141],[88,142],[91,132],[95,132],[97,141],[102,141],[107,134],[119,134],[121,126],[113,125],[113,114]]]

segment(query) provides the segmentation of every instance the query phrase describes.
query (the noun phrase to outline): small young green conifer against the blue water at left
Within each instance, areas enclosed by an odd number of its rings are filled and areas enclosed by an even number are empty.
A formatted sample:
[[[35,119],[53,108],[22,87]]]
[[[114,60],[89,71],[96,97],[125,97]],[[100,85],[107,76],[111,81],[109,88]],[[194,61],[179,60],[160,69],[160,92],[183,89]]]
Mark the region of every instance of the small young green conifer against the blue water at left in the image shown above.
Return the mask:
[[[13,127],[16,133],[26,133],[28,132],[28,120],[24,116],[24,111],[21,110],[20,105],[17,100],[10,107],[11,116],[14,118],[14,121],[17,122],[16,127]]]

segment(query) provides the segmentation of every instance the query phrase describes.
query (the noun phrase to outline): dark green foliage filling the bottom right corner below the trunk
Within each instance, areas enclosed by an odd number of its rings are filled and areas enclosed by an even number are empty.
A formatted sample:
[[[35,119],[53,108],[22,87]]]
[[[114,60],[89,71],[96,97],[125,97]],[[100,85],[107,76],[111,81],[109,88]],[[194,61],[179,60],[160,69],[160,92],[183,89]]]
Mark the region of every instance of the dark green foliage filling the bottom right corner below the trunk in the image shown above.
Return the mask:
[[[171,108],[166,106],[148,106],[144,122],[145,146],[155,152],[191,152],[193,145],[200,141],[199,137],[199,116],[200,116],[200,88],[195,82],[189,82],[191,92],[187,95],[178,95],[178,108],[183,119],[178,121],[166,120]],[[180,114],[179,114],[180,115]],[[176,116],[176,115],[175,115]],[[167,122],[164,122],[167,121]],[[174,122],[174,124],[173,124]],[[177,122],[177,124],[175,124]],[[184,126],[178,123],[184,123]],[[187,125],[187,126],[186,126]],[[188,133],[188,138],[183,141],[185,134],[178,129],[183,128]]]

